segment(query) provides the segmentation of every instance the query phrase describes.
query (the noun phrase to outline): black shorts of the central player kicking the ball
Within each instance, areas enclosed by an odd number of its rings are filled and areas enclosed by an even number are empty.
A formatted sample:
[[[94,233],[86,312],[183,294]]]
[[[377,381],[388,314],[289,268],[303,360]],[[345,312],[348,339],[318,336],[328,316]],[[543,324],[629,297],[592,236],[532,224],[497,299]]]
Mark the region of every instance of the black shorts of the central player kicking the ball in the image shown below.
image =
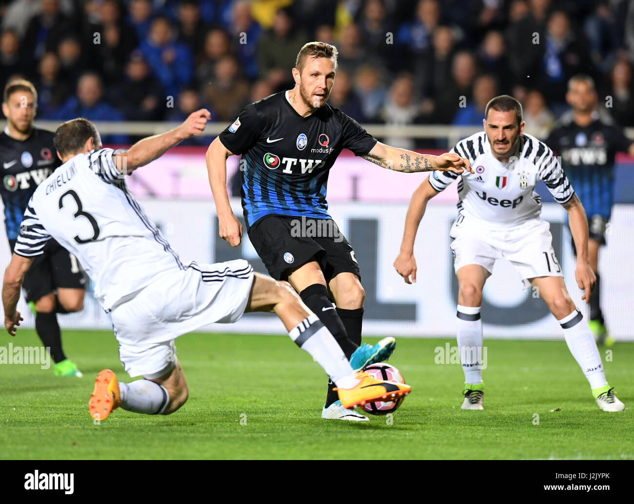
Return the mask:
[[[249,239],[276,280],[316,260],[326,281],[349,272],[361,278],[354,250],[332,219],[267,215],[249,228]]]

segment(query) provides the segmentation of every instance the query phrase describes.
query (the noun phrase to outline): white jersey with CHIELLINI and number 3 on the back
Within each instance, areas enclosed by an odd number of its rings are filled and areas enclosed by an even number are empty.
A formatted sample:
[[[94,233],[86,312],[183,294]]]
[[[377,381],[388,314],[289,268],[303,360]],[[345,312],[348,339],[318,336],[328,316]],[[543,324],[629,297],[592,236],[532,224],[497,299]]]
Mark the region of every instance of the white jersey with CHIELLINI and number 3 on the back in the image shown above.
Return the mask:
[[[41,255],[53,238],[77,256],[109,310],[166,271],[178,256],[127,189],[112,149],[77,154],[42,182],[24,213],[15,253]]]

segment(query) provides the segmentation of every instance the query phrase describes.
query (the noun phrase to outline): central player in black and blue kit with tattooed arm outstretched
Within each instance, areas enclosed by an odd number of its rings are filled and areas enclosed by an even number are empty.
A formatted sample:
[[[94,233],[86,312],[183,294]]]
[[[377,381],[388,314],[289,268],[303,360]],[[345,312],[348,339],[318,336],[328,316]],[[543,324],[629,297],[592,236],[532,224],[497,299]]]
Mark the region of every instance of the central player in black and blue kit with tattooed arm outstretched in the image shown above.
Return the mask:
[[[458,154],[425,156],[377,142],[354,119],[328,105],[336,71],[337,48],[305,44],[292,70],[295,87],[245,107],[209,146],[207,170],[219,234],[237,246],[242,225],[229,204],[226,159],[242,155],[242,207],[250,241],[269,274],[290,282],[356,369],[362,367],[358,355],[368,350],[361,345],[365,292],[354,250],[328,214],[330,168],[343,149],[409,173],[462,173],[470,164]],[[389,356],[393,348],[394,338],[384,338],[371,353]],[[367,420],[342,408],[332,383],[321,416]]]

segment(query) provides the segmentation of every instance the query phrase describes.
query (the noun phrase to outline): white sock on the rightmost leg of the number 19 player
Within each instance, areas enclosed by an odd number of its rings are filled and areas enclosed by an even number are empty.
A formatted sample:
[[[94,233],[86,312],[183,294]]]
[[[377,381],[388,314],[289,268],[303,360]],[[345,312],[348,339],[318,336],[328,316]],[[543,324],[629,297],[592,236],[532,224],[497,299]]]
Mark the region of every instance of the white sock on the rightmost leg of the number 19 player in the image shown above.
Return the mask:
[[[573,354],[590,381],[590,388],[601,388],[607,385],[601,355],[598,353],[597,343],[588,324],[583,322],[583,315],[575,308],[567,317],[558,321],[564,329],[564,338]]]

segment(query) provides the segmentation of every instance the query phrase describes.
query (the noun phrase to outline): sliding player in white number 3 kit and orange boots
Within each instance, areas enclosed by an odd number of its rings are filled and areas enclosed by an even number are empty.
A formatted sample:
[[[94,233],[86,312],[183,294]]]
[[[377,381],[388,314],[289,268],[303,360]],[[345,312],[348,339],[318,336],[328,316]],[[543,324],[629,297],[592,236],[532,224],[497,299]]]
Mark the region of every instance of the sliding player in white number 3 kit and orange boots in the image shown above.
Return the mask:
[[[327,328],[288,282],[254,273],[245,260],[184,265],[129,192],[124,175],[200,135],[209,111],[150,136],[129,150],[102,149],[86,119],[61,124],[53,143],[63,164],[34,192],[15,253],[4,275],[4,325],[15,336],[20,286],[33,259],[53,238],[73,253],[95,282],[95,297],[112,316],[119,357],[130,376],[117,382],[110,369],[97,376],[89,401],[93,418],[119,406],[136,413],[169,414],[188,397],[174,338],[213,322],[231,323],[244,312],[275,312],[297,345],[313,356],[337,387],[346,408],[406,395],[410,387],[356,373]],[[368,355],[370,363],[372,356]],[[380,399],[379,399],[380,400]]]

